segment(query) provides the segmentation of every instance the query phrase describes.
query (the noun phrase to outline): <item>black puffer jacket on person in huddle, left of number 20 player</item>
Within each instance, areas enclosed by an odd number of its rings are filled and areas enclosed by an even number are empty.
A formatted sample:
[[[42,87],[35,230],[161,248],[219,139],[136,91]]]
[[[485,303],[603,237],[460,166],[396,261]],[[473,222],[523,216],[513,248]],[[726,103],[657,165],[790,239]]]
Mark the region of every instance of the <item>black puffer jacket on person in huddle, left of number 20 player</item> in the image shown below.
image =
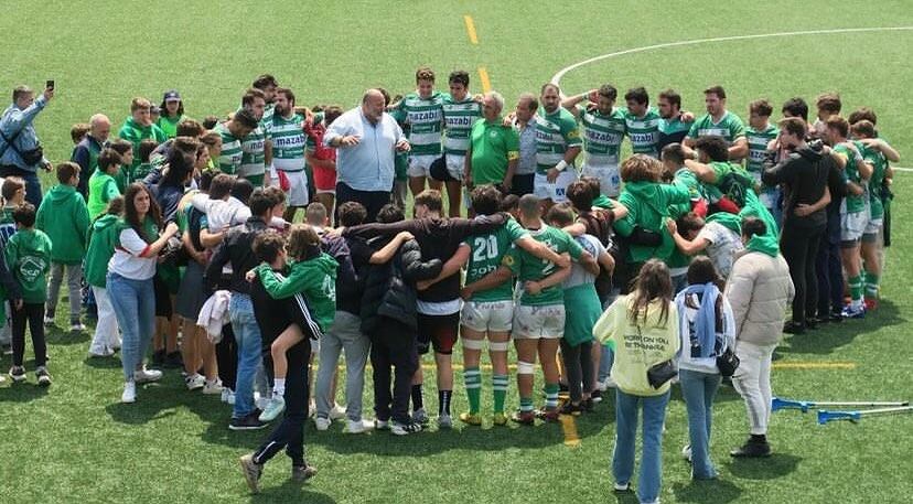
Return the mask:
[[[382,239],[378,245],[383,247],[387,242]],[[387,264],[368,267],[362,297],[362,332],[375,332],[380,315],[415,330],[416,282],[437,277],[441,268],[443,262],[437,258],[422,262],[421,248],[413,239],[404,243]]]

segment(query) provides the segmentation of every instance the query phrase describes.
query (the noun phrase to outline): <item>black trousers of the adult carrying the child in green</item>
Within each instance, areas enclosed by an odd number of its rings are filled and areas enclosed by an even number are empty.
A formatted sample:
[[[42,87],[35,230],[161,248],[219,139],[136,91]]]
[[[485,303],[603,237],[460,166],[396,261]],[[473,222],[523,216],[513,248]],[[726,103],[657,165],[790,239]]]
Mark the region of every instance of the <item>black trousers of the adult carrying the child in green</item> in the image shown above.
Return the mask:
[[[276,457],[280,450],[292,460],[293,467],[304,467],[304,420],[308,419],[308,363],[311,360],[311,340],[303,341],[286,352],[289,372],[286,375],[286,412],[282,422],[254,453],[254,461],[262,464]]]

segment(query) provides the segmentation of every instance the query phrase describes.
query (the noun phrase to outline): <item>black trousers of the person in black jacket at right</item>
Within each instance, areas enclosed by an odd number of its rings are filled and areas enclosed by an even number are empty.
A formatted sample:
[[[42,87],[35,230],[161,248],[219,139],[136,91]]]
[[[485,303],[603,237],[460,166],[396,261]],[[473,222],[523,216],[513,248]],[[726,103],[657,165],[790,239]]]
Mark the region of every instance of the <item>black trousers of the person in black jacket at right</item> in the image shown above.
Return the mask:
[[[805,318],[818,310],[818,277],[815,267],[824,227],[797,228],[786,225],[780,237],[780,250],[790,265],[790,277],[796,287],[793,298],[793,322],[805,324]]]

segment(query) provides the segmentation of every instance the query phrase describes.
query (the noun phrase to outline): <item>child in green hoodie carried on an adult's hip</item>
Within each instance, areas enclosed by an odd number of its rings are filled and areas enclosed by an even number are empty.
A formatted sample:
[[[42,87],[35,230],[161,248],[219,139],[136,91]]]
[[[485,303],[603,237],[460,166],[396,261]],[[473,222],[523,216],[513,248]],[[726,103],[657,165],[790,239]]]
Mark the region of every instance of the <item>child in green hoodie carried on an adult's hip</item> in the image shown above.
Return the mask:
[[[330,330],[336,317],[336,268],[339,262],[332,256],[321,251],[320,237],[313,227],[307,224],[293,224],[289,230],[288,255],[292,258],[288,278],[277,276],[270,265],[264,262],[257,267],[257,276],[264,288],[273,299],[290,298],[301,293],[313,315],[319,331]],[[313,326],[313,325],[312,325]],[[303,339],[302,331],[286,330],[270,346],[275,385],[272,400],[260,416],[260,421],[272,419],[284,409],[286,374],[288,361],[286,351]],[[271,417],[271,418],[270,418]]]

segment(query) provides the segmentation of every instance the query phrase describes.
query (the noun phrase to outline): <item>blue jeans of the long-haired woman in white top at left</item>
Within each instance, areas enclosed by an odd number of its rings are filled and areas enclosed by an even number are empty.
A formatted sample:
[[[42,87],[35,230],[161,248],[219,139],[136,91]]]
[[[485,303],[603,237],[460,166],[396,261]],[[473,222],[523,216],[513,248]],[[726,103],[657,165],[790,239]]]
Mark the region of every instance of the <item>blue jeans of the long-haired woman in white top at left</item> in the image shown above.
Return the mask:
[[[149,341],[155,332],[155,291],[151,278],[131,280],[114,272],[108,274],[107,290],[120,325],[120,364],[123,377],[129,382],[133,379],[133,372],[142,365]]]

